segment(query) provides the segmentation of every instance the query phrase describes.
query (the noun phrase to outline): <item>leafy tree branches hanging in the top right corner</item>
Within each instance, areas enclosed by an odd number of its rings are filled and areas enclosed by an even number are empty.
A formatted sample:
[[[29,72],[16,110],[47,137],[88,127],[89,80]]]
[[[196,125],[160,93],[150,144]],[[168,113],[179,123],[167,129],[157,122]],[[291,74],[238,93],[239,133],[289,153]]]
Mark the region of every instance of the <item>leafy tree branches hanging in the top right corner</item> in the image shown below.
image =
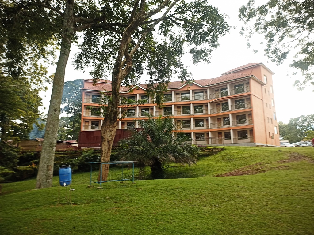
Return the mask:
[[[255,31],[264,35],[267,41],[265,55],[273,62],[281,64],[288,57],[291,48],[298,50],[290,66],[300,70],[305,79],[295,81],[295,86],[302,90],[309,82],[314,85],[312,0],[269,0],[260,6],[250,0],[240,8],[239,17],[248,26],[242,28],[242,34],[250,37]]]

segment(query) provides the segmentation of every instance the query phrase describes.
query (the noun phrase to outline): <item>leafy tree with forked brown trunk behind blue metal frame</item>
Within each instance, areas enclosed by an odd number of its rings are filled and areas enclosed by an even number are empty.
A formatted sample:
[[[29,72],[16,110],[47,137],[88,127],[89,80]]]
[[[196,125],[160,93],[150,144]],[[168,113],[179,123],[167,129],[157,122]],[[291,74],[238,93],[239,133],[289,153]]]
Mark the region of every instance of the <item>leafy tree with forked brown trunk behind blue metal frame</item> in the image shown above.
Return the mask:
[[[106,16],[105,25],[113,30],[91,27],[84,31],[81,52],[76,56],[77,69],[92,66],[95,82],[111,74],[111,97],[101,127],[101,160],[109,161],[116,134],[121,96],[120,86],[134,86],[146,72],[147,93],[163,103],[162,92],[173,77],[181,81],[190,74],[181,62],[189,48],[194,63],[209,62],[218,38],[228,30],[224,16],[206,0],[194,1],[99,1]],[[109,166],[102,169],[107,179]]]

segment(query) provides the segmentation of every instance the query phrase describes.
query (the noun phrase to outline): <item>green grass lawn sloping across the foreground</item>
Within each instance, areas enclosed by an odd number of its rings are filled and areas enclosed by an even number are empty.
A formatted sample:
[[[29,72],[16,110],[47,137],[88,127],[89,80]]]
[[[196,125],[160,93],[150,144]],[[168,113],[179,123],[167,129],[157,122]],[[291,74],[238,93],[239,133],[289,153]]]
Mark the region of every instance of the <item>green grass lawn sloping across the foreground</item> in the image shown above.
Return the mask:
[[[57,204],[58,177],[42,190],[35,179],[3,184],[0,234],[314,234],[311,147],[226,147],[166,175],[97,189],[89,173],[73,174],[73,206],[65,188]]]

